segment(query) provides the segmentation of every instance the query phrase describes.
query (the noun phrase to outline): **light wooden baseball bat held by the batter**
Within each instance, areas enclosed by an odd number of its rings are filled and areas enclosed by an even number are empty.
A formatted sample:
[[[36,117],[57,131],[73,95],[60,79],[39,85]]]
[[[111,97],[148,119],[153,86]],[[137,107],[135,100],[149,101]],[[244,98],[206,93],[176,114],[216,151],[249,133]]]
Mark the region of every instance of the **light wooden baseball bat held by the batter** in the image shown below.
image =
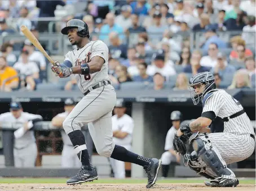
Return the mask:
[[[45,52],[42,45],[38,42],[37,38],[31,33],[31,31],[27,28],[27,26],[22,25],[20,27],[21,32],[30,40],[30,42],[37,47],[37,49],[45,55],[45,57],[50,61],[53,65],[55,65],[54,60]]]

